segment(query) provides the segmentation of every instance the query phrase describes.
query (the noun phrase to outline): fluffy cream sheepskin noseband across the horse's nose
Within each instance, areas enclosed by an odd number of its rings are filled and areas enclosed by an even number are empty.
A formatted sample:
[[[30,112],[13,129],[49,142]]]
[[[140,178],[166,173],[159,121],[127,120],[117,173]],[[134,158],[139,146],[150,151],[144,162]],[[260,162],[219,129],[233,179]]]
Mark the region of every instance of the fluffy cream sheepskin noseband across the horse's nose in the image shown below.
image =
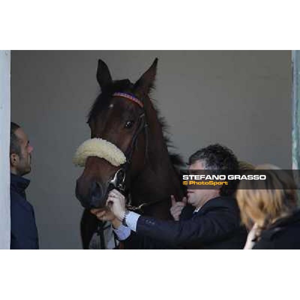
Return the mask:
[[[73,163],[78,166],[85,166],[85,160],[88,156],[104,158],[114,166],[126,162],[124,153],[116,145],[97,137],[85,140],[77,148]]]

